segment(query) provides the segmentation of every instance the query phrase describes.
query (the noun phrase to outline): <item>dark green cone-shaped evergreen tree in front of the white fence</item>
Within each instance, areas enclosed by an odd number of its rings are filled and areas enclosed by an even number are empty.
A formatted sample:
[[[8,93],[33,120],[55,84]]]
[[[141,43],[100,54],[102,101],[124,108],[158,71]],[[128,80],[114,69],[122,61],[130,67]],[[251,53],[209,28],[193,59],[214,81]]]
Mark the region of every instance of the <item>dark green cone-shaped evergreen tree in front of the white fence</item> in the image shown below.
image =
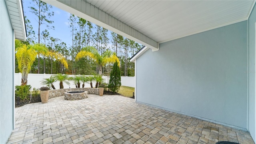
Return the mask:
[[[118,66],[118,62],[116,61],[114,63],[112,71],[110,72],[108,88],[112,92],[118,92],[120,86],[121,86],[121,71]]]

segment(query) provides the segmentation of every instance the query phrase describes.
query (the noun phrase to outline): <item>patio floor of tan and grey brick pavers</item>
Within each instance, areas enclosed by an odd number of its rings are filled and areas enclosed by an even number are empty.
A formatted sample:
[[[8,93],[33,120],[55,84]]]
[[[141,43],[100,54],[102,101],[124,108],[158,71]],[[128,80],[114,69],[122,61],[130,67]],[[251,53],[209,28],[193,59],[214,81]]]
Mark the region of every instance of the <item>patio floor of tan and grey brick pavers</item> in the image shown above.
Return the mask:
[[[61,96],[15,110],[16,128],[9,144],[254,144],[248,132],[122,96],[89,94],[74,101]]]

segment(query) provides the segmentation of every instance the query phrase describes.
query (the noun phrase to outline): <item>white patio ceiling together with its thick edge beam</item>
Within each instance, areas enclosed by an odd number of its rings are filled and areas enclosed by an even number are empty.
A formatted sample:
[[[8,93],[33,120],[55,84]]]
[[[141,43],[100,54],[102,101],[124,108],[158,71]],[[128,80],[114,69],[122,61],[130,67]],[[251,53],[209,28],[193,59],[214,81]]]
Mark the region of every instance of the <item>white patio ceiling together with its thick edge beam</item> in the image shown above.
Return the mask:
[[[158,44],[248,20],[254,0],[43,0],[153,50]]]

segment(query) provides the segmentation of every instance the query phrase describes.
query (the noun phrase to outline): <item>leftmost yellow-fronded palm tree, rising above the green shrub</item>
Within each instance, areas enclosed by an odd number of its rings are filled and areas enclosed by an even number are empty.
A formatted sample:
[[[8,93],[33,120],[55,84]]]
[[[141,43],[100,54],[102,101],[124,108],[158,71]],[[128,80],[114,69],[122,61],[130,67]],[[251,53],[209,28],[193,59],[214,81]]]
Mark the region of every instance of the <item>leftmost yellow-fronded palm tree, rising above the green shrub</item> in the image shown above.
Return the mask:
[[[21,85],[28,83],[28,73],[31,69],[32,64],[36,60],[36,50],[41,45],[26,45],[19,40],[15,40],[16,44],[16,59],[18,61],[18,69],[22,73]]]

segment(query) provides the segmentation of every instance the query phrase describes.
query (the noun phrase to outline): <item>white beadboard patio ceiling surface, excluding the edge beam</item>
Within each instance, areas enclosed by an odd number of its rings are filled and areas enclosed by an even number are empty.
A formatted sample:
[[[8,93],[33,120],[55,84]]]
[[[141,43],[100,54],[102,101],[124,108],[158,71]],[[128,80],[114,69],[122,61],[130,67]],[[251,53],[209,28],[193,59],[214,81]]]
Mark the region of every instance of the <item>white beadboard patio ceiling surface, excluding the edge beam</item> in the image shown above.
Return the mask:
[[[86,0],[152,38],[174,40],[247,20],[253,0]]]

